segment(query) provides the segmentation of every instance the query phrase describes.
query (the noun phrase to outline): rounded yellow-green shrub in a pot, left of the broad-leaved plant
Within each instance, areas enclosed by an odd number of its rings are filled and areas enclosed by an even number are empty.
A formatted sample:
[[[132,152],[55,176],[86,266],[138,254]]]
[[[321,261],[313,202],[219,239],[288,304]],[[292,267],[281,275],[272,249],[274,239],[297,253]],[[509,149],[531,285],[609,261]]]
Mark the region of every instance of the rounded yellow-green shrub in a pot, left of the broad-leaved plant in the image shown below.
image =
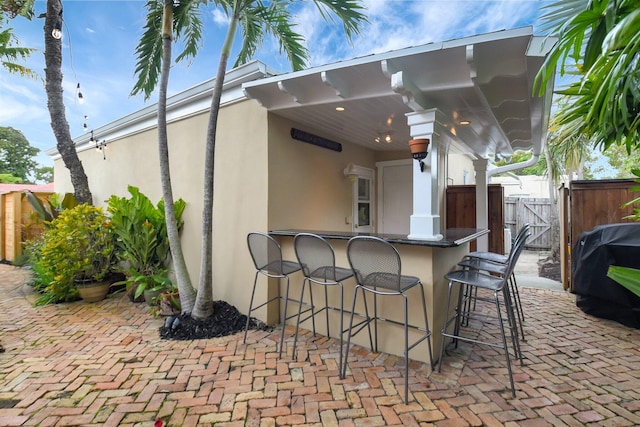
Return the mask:
[[[101,208],[87,204],[62,211],[29,244],[34,287],[43,292],[38,304],[78,298],[75,281],[106,279],[114,269],[115,234]]]

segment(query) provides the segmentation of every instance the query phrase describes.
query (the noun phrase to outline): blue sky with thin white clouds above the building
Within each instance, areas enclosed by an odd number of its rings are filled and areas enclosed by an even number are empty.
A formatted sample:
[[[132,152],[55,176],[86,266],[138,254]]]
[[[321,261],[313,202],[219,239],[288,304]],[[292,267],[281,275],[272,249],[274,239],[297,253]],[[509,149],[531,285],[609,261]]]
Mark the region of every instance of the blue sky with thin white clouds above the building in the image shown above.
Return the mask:
[[[62,0],[64,7],[63,74],[67,120],[73,137],[154,103],[129,94],[135,82],[135,47],[145,23],[143,1]],[[326,24],[311,2],[296,5],[296,30],[304,35],[311,65],[401,49],[429,42],[450,40],[490,31],[533,25],[540,7],[548,1],[511,0],[365,0],[370,23],[349,44],[337,25]],[[45,2],[36,2],[36,15]],[[203,11],[204,41],[191,61],[172,68],[169,94],[175,94],[214,76],[226,19],[220,10]],[[42,19],[16,18],[8,26],[22,46],[38,49],[26,65],[44,76]],[[236,42],[236,46],[239,43]],[[175,53],[175,52],[174,52]],[[286,59],[278,55],[274,40],[266,39],[259,59],[279,71],[288,71]],[[232,58],[230,63],[235,61]],[[84,103],[77,102],[80,84]],[[0,70],[0,126],[22,131],[31,145],[42,151],[55,146],[47,100],[41,82],[30,81]],[[85,116],[88,120],[85,120]],[[52,160],[43,152],[38,161]]]

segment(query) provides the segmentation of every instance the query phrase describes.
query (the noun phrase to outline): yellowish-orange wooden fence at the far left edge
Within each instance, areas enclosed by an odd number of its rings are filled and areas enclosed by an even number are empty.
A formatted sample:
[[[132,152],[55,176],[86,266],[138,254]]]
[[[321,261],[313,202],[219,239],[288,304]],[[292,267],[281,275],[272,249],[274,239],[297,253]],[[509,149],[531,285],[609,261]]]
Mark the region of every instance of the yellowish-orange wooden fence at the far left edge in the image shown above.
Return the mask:
[[[50,192],[33,192],[45,201]],[[35,215],[24,192],[0,193],[0,260],[15,262],[22,254],[23,243],[42,232],[42,224]]]

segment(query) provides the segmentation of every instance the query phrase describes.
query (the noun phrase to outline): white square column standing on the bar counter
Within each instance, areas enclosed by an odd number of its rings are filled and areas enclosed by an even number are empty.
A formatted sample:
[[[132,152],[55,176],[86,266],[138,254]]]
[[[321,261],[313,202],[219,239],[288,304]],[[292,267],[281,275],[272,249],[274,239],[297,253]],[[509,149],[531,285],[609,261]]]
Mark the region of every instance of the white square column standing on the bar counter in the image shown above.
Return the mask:
[[[429,154],[420,162],[413,162],[413,214],[409,225],[409,238],[440,240],[440,194],[444,178],[440,175],[440,153],[445,150],[441,139],[442,113],[437,109],[407,113],[407,123],[413,139],[429,138]],[[442,188],[441,188],[442,187]]]

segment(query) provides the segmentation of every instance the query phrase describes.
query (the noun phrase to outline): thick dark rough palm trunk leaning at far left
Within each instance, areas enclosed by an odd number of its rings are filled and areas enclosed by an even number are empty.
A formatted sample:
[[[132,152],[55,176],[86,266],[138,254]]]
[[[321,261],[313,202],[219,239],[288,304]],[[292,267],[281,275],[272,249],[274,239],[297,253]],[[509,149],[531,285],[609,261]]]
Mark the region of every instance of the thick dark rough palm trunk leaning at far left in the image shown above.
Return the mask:
[[[84,172],[82,162],[78,158],[76,146],[71,139],[69,123],[64,108],[62,95],[62,41],[51,35],[53,27],[62,15],[60,0],[47,0],[47,12],[44,21],[44,60],[45,89],[47,107],[51,116],[51,129],[56,137],[56,147],[62,161],[71,175],[74,196],[80,203],[93,204],[89,191],[89,180]]]

